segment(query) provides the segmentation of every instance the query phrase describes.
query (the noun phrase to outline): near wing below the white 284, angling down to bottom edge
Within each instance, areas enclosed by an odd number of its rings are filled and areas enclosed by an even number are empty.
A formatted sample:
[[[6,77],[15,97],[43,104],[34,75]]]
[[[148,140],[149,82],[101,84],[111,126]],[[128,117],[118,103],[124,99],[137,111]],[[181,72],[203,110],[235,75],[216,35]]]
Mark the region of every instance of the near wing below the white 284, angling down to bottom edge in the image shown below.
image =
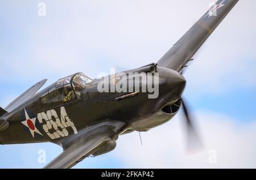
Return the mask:
[[[116,127],[119,125],[117,124]],[[119,126],[121,127],[121,126]],[[109,147],[112,144],[112,148],[115,148],[115,140],[118,135],[113,132],[111,128],[100,127],[98,130],[92,132],[80,132],[81,135],[73,137],[72,140],[68,140],[68,147],[64,145],[64,151],[54,160],[49,162],[44,169],[67,169],[72,168],[77,163],[84,160],[84,158],[99,152],[99,149]],[[113,150],[112,148],[109,151]]]

